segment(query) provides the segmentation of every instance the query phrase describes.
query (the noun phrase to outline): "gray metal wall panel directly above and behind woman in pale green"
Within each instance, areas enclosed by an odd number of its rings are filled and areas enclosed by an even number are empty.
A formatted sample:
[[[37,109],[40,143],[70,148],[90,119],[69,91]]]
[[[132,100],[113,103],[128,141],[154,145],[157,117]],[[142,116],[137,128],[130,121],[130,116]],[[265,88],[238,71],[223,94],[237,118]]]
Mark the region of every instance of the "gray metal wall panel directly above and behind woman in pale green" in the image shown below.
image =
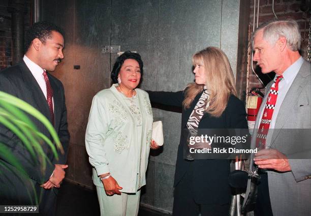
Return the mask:
[[[158,1],[112,1],[111,45],[137,51],[144,62],[140,88],[155,89],[157,79]],[[117,55],[112,55],[112,66]]]

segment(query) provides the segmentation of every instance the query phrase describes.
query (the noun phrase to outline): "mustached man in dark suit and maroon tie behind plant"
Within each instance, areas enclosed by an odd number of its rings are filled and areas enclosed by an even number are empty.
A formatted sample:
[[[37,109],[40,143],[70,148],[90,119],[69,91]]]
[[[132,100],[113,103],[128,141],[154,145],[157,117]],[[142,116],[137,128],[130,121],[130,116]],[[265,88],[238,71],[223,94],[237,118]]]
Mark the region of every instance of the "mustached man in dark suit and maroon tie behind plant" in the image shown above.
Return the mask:
[[[22,175],[12,164],[0,158],[4,164],[0,166],[0,202],[29,205],[35,204],[37,197],[40,214],[55,215],[55,188],[60,187],[65,177],[64,169],[68,167],[65,163],[70,135],[64,86],[47,71],[54,71],[64,58],[64,37],[57,26],[37,22],[26,33],[25,48],[26,53],[20,64],[0,72],[0,90],[26,101],[45,115],[54,126],[65,153],[58,151],[56,159],[48,144],[42,143],[42,149],[51,162],[42,171],[42,160],[34,161],[17,136],[0,125],[0,142],[10,148],[27,174]],[[38,119],[29,117],[42,134],[51,138]]]

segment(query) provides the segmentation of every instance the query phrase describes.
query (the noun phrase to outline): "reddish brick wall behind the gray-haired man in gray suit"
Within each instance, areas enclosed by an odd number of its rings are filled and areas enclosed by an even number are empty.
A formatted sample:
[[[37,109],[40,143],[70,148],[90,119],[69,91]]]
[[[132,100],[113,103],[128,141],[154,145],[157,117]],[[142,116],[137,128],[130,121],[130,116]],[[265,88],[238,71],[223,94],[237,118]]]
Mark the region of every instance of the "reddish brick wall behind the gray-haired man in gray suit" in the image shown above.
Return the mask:
[[[250,25],[251,29],[253,30],[253,17],[254,17],[254,0],[251,1],[251,10],[250,10]],[[308,44],[308,29],[309,29],[309,19],[310,13],[304,13],[301,9],[301,2],[298,0],[275,0],[274,1],[274,12],[278,19],[285,19],[291,18],[298,22],[300,26],[300,32],[302,37],[301,42],[301,54],[304,58],[306,58],[306,48]],[[256,2],[256,13],[257,13],[257,4]],[[259,6],[259,25],[265,21],[271,20],[274,18],[272,12],[272,0],[260,0]],[[257,19],[257,18],[256,18]],[[305,20],[306,20],[306,27],[305,27]],[[255,20],[255,26],[256,26]],[[255,66],[254,66],[255,67]],[[249,88],[262,86],[258,78],[252,72],[250,68],[250,83]]]

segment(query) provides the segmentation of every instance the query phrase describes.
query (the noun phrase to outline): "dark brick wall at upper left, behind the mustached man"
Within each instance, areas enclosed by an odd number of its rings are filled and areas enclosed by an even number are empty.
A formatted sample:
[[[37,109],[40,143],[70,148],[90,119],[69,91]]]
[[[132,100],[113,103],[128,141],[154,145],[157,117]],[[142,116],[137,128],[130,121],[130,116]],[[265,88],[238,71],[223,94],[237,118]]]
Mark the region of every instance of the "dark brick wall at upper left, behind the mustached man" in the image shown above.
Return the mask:
[[[12,64],[11,13],[8,12],[9,1],[10,0],[0,1],[0,70]],[[25,0],[25,30],[29,28],[29,11],[30,0]]]

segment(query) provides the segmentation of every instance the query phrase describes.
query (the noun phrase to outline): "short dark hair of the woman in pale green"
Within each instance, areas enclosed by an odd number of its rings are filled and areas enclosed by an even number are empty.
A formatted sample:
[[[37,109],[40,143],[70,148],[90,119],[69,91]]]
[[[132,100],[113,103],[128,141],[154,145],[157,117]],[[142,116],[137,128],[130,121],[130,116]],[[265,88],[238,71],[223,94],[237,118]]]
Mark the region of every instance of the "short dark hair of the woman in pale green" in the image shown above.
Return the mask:
[[[113,83],[118,83],[118,74],[120,72],[120,69],[124,63],[124,61],[126,59],[134,59],[137,60],[138,64],[139,64],[139,68],[140,68],[140,74],[142,76],[143,74],[143,62],[141,60],[141,56],[138,53],[135,52],[131,52],[131,51],[126,51],[123,54],[121,54],[115,61],[113,69],[111,71],[111,79]]]

